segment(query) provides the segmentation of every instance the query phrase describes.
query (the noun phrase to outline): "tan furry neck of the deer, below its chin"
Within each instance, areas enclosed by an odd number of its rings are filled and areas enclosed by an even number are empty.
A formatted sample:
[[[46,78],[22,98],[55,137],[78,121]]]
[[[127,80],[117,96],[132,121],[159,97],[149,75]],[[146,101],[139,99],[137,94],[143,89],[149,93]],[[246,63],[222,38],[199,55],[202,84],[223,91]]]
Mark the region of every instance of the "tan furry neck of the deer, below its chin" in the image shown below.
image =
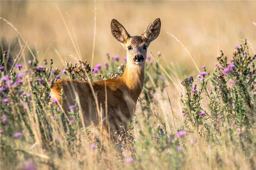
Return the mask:
[[[135,65],[127,62],[124,74],[121,77],[136,102],[143,89],[144,67],[145,65]]]

